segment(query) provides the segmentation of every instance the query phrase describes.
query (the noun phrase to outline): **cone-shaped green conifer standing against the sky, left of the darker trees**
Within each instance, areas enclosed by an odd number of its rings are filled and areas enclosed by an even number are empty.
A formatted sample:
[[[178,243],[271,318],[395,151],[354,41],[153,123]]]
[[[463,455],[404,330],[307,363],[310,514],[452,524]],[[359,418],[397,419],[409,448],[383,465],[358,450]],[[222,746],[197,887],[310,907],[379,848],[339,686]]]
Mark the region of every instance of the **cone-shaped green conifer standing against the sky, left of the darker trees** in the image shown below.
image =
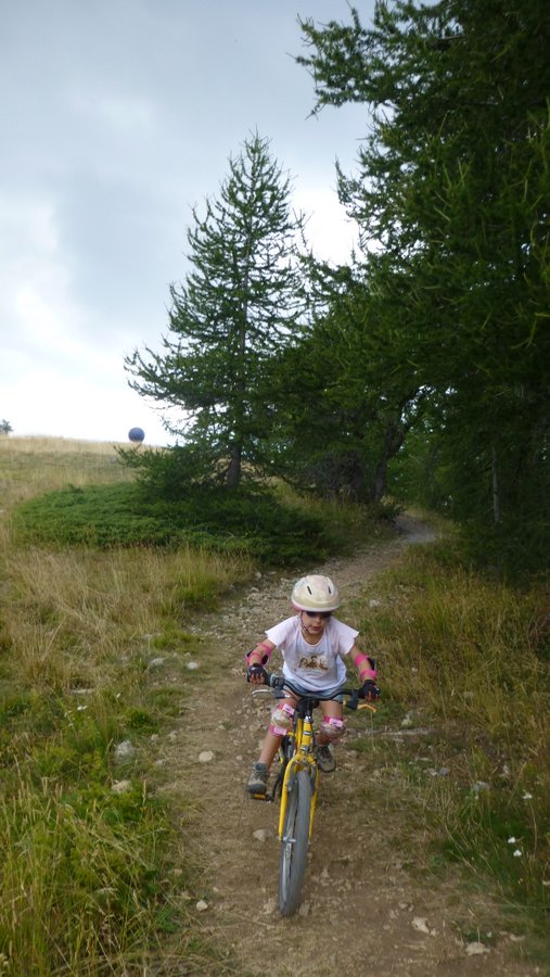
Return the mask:
[[[188,229],[192,270],[170,288],[164,352],[126,360],[138,393],[181,411],[166,427],[200,468],[240,483],[243,462],[261,467],[270,432],[267,365],[292,339],[303,310],[298,251],[305,218],[291,180],[256,132],[229,160],[217,199]]]

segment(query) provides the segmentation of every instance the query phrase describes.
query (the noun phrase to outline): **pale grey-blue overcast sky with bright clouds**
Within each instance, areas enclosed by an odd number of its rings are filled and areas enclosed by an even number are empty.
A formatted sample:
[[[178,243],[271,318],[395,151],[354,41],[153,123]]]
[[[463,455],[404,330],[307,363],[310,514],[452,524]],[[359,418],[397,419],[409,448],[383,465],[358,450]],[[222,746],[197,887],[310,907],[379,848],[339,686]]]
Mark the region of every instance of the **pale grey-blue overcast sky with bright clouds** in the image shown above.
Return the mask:
[[[356,3],[364,24],[374,0]],[[0,0],[0,421],[14,435],[165,444],[124,357],[159,350],[191,207],[257,129],[293,177],[309,242],[354,243],[334,163],[361,106],[308,117],[297,17],[346,0]]]

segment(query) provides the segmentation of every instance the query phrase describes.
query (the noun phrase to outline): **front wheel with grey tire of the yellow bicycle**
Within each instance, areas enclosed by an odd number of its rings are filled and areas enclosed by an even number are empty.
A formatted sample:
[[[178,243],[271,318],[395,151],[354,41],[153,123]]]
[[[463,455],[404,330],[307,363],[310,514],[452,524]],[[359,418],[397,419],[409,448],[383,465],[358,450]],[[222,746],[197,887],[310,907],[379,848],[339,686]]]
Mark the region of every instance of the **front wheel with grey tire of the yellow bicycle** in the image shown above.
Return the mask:
[[[296,912],[302,894],[309,843],[311,781],[307,770],[299,770],[289,789],[279,868],[279,910],[282,916]]]

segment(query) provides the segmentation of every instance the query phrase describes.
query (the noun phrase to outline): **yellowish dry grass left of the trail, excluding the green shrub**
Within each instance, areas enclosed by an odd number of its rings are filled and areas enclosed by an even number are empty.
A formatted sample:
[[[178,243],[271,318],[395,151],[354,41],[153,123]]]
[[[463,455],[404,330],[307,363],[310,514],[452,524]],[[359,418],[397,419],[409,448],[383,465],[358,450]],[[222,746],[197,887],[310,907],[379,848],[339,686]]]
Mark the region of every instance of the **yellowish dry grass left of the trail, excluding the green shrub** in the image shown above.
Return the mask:
[[[0,439],[0,973],[141,974],[187,913],[184,852],[163,876],[181,839],[150,795],[146,734],[193,681],[152,696],[148,667],[168,654],[183,674],[193,608],[250,567],[186,547],[22,548],[10,524],[33,495],[128,478],[113,444]]]

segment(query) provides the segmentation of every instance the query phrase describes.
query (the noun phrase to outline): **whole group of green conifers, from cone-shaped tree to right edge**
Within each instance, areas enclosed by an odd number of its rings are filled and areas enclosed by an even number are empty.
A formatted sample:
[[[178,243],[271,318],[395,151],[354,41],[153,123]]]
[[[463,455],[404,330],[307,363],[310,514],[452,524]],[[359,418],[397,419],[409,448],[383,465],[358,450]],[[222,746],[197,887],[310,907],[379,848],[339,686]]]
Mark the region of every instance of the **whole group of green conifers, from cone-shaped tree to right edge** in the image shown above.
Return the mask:
[[[156,492],[276,473],[319,495],[388,491],[458,522],[472,556],[547,566],[550,22],[543,0],[378,3],[300,23],[314,112],[366,106],[350,263],[320,263],[257,131],[193,211],[192,271],[131,385],[166,407]]]

